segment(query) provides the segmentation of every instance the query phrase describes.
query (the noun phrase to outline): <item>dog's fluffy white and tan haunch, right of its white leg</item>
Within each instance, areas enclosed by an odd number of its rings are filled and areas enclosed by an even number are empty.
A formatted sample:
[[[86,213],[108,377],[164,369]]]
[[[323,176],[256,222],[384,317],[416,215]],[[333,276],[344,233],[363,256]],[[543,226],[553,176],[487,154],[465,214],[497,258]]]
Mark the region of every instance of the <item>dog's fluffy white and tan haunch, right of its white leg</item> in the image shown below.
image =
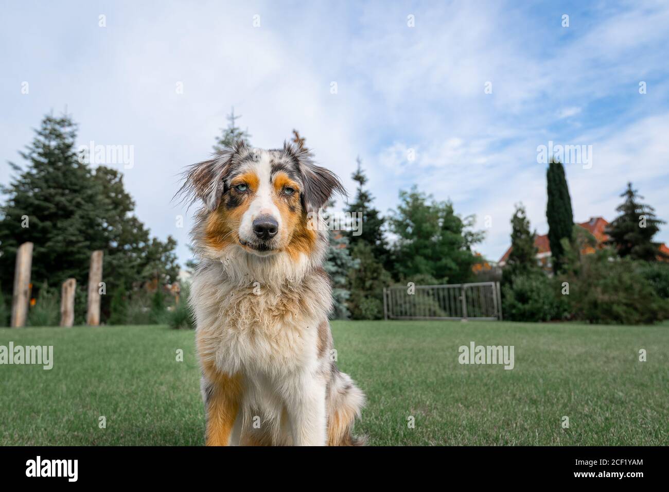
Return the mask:
[[[365,436],[353,435],[353,423],[365,406],[365,394],[348,374],[332,364],[328,394],[328,446],[364,446]]]

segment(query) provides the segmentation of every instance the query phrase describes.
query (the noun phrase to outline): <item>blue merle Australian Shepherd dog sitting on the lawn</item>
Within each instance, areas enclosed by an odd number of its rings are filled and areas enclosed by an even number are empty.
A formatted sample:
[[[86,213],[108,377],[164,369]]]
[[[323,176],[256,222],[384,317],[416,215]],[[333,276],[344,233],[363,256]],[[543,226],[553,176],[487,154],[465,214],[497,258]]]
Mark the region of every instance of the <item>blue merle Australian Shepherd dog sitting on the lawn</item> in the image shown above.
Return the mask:
[[[191,287],[209,446],[355,445],[365,395],[334,362],[320,209],[345,193],[309,151],[245,143],[192,165]]]

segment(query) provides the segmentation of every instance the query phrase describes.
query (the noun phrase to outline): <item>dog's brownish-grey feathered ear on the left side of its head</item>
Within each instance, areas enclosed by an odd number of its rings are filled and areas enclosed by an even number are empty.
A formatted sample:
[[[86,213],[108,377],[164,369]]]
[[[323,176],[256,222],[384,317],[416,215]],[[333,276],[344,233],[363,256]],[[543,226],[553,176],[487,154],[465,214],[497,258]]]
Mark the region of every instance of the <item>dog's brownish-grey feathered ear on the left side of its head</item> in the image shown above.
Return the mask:
[[[248,151],[250,151],[248,145],[244,141],[239,141],[232,147],[216,151],[208,161],[189,166],[183,173],[185,176],[183,186],[175,196],[190,198],[190,203],[199,198],[209,212],[216,210],[226,191],[225,177],[233,169],[236,158]]]

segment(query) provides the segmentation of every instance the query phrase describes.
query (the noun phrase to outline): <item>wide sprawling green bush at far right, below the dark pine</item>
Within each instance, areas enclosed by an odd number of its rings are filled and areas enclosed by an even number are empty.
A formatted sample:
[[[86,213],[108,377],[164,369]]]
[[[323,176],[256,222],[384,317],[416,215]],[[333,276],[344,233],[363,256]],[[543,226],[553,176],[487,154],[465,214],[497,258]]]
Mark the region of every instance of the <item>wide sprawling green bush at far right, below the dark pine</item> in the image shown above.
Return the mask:
[[[624,325],[656,323],[669,317],[669,301],[657,291],[664,275],[660,273],[660,280],[653,283],[642,274],[646,268],[638,260],[616,258],[607,250],[583,256],[577,272],[561,276],[569,282],[569,296],[565,297],[573,317]]]

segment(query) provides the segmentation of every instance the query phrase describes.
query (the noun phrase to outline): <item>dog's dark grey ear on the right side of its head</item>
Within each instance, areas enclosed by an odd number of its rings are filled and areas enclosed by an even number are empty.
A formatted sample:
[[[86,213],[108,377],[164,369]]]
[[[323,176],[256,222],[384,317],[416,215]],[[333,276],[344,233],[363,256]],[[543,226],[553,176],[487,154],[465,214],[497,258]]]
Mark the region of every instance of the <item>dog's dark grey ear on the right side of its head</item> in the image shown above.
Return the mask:
[[[308,149],[298,148],[292,143],[284,142],[284,152],[294,159],[300,169],[302,178],[302,203],[307,212],[316,212],[321,208],[333,193],[347,196],[344,185],[339,177],[314,163]]]

